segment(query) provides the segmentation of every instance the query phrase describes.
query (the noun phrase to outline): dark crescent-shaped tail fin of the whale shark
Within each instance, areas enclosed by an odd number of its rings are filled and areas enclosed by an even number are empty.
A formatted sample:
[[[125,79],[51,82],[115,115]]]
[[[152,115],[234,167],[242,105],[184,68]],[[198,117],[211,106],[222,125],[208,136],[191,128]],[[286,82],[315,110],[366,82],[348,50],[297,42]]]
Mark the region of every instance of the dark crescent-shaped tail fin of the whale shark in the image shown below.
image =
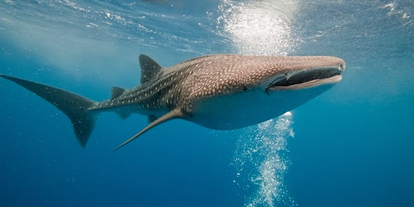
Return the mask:
[[[70,121],[72,121],[75,135],[83,148],[88,142],[89,136],[95,127],[96,112],[88,110],[94,101],[90,101],[84,97],[76,95],[66,90],[46,86],[32,81],[26,81],[15,77],[0,75],[5,79],[9,79],[14,83],[23,86],[24,88],[34,92],[46,101],[49,101],[59,110],[65,113]]]

